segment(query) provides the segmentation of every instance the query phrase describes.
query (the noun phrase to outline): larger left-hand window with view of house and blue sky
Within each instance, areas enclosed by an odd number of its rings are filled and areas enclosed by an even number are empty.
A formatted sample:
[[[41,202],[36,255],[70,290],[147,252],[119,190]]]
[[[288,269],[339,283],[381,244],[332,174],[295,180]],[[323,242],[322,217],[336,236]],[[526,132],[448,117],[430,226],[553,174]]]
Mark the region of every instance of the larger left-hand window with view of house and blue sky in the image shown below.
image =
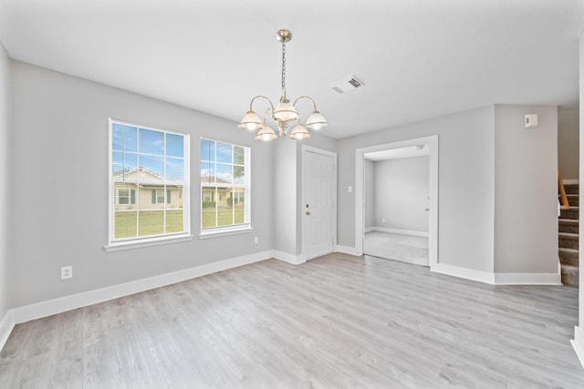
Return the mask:
[[[110,120],[110,245],[189,235],[188,168],[188,135]]]

